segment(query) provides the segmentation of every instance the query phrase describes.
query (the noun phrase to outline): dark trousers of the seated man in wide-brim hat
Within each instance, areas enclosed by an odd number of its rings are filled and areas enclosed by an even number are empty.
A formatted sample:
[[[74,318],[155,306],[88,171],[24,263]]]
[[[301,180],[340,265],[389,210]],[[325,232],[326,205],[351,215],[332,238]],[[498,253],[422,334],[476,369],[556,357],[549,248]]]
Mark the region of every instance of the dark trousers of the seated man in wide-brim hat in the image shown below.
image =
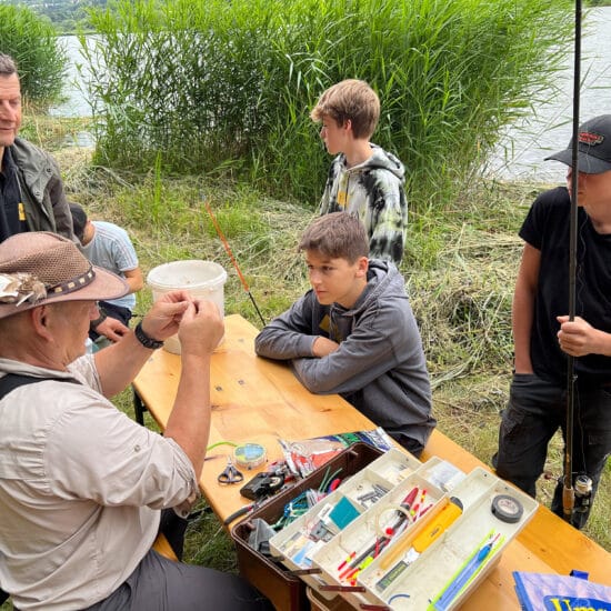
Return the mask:
[[[159,531],[178,558],[187,520],[164,510]],[[242,578],[204,567],[173,562],[154,550],[107,599],[84,611],[273,611],[273,605]]]

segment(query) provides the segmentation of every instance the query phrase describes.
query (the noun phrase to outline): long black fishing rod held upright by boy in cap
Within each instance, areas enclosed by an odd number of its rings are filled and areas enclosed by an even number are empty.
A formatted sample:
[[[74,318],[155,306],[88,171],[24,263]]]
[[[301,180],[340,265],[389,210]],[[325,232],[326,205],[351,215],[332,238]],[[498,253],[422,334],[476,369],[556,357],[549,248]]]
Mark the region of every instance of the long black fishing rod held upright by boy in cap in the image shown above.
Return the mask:
[[[579,184],[579,90],[581,84],[581,0],[575,0],[573,68],[573,138],[571,156],[571,213],[569,226],[569,320],[575,318],[578,184]],[[567,359],[567,433],[564,442],[564,472],[562,477],[562,513],[571,522],[575,503],[573,489],[573,420],[574,420],[574,357]]]

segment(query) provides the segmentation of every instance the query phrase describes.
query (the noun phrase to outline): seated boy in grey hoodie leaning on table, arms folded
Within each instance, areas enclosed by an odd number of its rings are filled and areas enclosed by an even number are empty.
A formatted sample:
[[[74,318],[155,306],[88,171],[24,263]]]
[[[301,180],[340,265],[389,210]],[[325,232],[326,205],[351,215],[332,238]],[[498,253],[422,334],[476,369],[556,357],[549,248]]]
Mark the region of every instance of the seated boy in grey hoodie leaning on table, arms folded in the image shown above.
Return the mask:
[[[257,354],[290,360],[308,390],[341,394],[419,457],[437,422],[403,278],[368,258],[365,230],[348,212],[315,219],[299,250],[312,289],[259,333]]]

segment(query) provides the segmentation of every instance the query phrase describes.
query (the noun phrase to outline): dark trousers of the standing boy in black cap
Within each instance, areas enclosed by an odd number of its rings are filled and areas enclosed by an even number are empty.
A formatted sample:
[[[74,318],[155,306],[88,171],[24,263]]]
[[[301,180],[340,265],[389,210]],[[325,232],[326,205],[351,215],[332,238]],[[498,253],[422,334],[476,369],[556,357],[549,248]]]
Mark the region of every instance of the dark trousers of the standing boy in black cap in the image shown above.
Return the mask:
[[[517,373],[509,403],[502,412],[499,451],[492,463],[497,474],[531,497],[543,472],[548,443],[555,431],[567,441],[567,389],[535,374]],[[579,388],[574,392],[572,479],[585,474],[592,480],[589,502],[575,499],[572,524],[582,528],[590,514],[601,472],[611,452],[611,389]],[[562,517],[562,480],[551,510]]]

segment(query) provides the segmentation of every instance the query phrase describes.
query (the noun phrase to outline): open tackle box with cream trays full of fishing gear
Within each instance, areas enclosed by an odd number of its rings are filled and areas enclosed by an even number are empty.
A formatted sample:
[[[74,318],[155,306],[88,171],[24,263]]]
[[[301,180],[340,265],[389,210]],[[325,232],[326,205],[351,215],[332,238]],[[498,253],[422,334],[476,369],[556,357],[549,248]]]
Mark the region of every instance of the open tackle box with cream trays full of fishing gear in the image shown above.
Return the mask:
[[[368,454],[360,468],[347,468],[333,492],[271,537],[271,559],[247,543],[249,523],[256,517],[274,523],[290,499],[320,484],[321,471],[337,469],[333,461],[345,461],[350,448],[232,530],[241,573],[278,609],[308,608],[299,581],[320,600],[340,595],[355,609],[454,609],[538,508],[485,469],[464,474],[438,458],[422,463],[395,449],[375,457],[357,445],[353,451]],[[262,563],[266,570],[252,579]],[[296,600],[279,602],[287,591]]]

